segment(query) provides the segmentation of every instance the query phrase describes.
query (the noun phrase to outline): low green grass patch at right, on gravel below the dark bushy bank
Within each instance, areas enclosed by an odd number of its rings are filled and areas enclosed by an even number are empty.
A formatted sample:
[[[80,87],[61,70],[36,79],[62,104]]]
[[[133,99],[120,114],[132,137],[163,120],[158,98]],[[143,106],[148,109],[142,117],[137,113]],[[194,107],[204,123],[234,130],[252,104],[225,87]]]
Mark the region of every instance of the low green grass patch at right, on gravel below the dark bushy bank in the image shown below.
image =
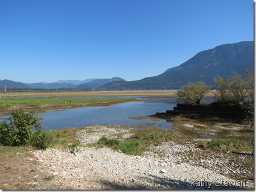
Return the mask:
[[[247,144],[244,140],[239,139],[212,139],[201,143],[199,147],[214,151],[238,151],[247,147]]]

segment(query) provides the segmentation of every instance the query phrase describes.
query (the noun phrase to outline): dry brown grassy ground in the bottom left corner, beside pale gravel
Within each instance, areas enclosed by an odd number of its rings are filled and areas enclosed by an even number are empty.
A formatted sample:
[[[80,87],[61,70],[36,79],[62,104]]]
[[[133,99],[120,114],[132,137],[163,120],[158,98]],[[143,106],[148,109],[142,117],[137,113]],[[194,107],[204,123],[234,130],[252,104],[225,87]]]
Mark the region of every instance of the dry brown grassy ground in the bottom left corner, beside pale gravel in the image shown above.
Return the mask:
[[[56,182],[47,167],[40,166],[30,147],[8,147],[0,145],[0,189],[1,190],[67,190]]]

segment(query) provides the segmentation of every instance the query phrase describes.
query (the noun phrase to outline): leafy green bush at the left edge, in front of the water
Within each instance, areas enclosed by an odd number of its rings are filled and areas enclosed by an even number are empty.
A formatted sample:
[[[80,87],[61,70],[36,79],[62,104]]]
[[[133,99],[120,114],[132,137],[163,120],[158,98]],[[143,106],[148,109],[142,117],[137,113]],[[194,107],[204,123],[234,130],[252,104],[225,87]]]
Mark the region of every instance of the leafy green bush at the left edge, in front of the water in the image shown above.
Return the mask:
[[[25,109],[14,109],[11,116],[0,123],[0,143],[7,146],[31,144],[39,149],[45,149],[51,142],[51,137],[43,131],[37,113]]]

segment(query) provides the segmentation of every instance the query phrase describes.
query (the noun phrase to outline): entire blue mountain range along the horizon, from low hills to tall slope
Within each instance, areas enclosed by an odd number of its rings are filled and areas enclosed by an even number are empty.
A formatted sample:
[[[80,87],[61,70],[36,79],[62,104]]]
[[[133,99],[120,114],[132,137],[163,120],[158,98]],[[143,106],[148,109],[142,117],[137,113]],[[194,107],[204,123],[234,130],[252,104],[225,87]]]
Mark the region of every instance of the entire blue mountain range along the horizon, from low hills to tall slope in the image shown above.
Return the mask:
[[[136,81],[126,81],[120,77],[111,79],[58,80],[53,83],[22,83],[0,80],[0,88],[40,88],[40,89],[99,89],[99,90],[143,90],[143,89],[180,89],[188,82],[201,80],[214,87],[213,78],[228,77],[237,73],[245,74],[254,70],[254,41],[241,41],[223,44],[213,49],[197,53],[183,64],[172,67],[164,73]],[[142,71],[143,73],[143,71]]]

